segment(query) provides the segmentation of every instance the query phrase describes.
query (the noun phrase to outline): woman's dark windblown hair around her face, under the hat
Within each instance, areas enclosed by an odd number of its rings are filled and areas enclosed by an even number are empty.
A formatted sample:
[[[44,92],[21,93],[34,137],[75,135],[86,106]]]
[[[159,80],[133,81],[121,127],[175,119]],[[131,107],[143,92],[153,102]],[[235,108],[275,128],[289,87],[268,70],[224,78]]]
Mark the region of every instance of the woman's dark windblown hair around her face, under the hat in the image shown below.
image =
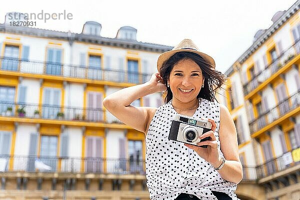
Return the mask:
[[[218,88],[226,81],[227,77],[218,70],[215,70],[211,65],[204,60],[200,55],[193,52],[176,52],[169,59],[165,60],[160,69],[159,73],[163,79],[164,84],[167,86],[167,80],[169,79],[170,72],[174,65],[180,60],[191,59],[193,60],[202,70],[202,75],[204,77],[204,87],[201,87],[197,98],[201,97],[209,101],[216,100],[215,93]],[[170,87],[166,89],[166,96],[164,98],[164,103],[170,101],[173,97],[173,93]],[[217,100],[216,100],[217,101]]]

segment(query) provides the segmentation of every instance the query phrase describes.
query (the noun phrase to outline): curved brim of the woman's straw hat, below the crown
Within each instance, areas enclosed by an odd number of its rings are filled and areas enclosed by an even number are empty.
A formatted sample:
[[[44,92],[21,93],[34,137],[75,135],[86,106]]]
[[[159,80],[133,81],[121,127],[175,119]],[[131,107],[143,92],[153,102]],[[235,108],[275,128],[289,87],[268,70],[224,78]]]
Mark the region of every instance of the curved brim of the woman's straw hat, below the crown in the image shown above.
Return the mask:
[[[165,51],[163,53],[161,53],[157,59],[157,70],[159,71],[159,69],[162,66],[162,63],[167,60],[168,58],[170,58],[173,54],[175,54],[176,52],[193,52],[196,53],[198,55],[200,55],[203,59],[205,59],[207,61],[207,63],[215,68],[215,62],[213,60],[212,57],[210,57],[209,55],[202,53],[200,51],[197,50],[193,50],[193,49],[175,49],[175,50],[169,50],[169,51]]]

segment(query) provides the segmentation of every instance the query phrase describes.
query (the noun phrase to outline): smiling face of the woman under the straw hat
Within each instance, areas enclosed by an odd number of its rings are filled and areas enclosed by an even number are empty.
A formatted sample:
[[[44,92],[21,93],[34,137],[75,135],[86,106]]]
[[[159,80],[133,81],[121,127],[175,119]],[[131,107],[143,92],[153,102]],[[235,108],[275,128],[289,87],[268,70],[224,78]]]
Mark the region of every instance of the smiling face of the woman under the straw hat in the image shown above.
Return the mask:
[[[194,100],[202,86],[202,70],[192,59],[183,59],[170,72],[169,86],[173,98],[181,102]]]

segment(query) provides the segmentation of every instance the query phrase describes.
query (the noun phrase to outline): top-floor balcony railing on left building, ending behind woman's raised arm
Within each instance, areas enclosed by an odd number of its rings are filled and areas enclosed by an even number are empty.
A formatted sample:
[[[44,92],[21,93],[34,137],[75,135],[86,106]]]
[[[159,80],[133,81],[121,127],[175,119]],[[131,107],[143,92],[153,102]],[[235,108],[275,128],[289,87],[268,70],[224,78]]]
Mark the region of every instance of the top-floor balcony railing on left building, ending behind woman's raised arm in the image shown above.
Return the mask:
[[[0,70],[135,84],[144,83],[151,77],[151,74],[134,71],[101,69],[100,67],[57,62],[29,61],[12,57],[0,57]]]

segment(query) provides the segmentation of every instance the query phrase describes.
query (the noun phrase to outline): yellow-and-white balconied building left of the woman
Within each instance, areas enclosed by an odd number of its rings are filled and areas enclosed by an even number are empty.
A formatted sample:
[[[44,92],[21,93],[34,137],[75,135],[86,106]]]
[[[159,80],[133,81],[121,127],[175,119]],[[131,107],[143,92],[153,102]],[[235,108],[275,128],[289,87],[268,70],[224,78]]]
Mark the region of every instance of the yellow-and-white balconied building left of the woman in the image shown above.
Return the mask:
[[[148,199],[144,133],[102,99],[149,80],[171,46],[0,24],[0,199]],[[160,106],[161,93],[135,106]],[[92,191],[92,192],[91,192]]]

